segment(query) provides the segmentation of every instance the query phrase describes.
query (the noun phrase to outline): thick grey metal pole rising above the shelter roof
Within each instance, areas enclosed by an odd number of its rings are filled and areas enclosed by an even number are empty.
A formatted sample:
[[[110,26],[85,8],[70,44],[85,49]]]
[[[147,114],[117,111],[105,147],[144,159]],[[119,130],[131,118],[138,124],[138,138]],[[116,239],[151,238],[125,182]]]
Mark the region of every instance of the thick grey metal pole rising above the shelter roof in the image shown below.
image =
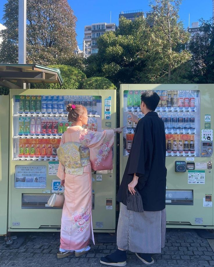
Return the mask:
[[[26,64],[26,1],[19,0],[19,64]]]

